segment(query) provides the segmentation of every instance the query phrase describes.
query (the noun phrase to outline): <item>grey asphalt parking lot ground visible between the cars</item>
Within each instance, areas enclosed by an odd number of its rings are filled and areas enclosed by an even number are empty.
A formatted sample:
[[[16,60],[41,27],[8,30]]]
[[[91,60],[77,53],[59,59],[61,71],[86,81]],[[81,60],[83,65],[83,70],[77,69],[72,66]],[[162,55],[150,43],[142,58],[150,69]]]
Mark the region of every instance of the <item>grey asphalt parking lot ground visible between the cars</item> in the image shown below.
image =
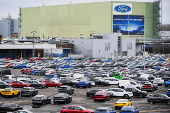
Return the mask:
[[[11,69],[13,75],[20,75],[20,69]],[[34,76],[30,75],[32,78],[39,78],[39,77],[45,77],[45,76]],[[107,86],[107,87],[101,87],[101,86],[95,86],[92,87],[94,89],[108,89],[108,88],[117,88],[117,85],[112,85],[112,86]],[[17,88],[20,89],[20,88]],[[98,107],[111,107],[114,109],[115,102],[119,98],[113,98],[110,101],[106,102],[94,102],[92,98],[86,97],[86,91],[91,89],[91,88],[74,88],[75,92],[72,95],[73,101],[72,103],[68,105],[81,105],[87,109],[92,109],[95,110]],[[54,87],[49,87],[49,88],[44,88],[44,89],[38,89],[39,94],[45,94],[46,96],[50,97],[53,100],[53,96],[57,94],[58,88]],[[148,92],[149,94],[153,93],[158,93],[158,94],[166,94],[167,88],[164,86],[159,86],[159,89],[154,91],[154,92]],[[131,99],[132,104],[136,106],[139,111],[142,112],[149,112],[149,113],[169,113],[170,112],[170,106],[167,105],[166,103],[156,103],[156,104],[149,104],[147,102],[147,97],[146,98],[139,98],[139,97],[133,97]],[[0,99],[0,104],[3,103],[18,103],[19,105],[23,106],[24,109],[27,109],[29,111],[32,111],[34,113],[59,113],[62,106],[65,104],[56,104],[54,105],[53,102],[48,105],[44,106],[36,106],[36,108],[32,107],[32,98],[31,97],[15,97],[15,98],[1,98]],[[116,110],[119,112],[119,110]]]

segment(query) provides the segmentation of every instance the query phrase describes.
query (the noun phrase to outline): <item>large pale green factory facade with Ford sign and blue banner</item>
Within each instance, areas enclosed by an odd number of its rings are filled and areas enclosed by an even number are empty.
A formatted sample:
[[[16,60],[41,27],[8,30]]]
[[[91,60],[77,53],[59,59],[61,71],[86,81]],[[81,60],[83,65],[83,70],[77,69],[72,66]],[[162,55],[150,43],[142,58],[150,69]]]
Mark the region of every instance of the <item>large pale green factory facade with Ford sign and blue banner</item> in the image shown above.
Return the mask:
[[[20,8],[20,37],[75,38],[82,33],[121,32],[123,38],[156,36],[159,13],[154,2],[94,2]],[[156,4],[159,7],[159,3]],[[154,27],[155,26],[155,27]],[[132,38],[132,37],[131,37]]]

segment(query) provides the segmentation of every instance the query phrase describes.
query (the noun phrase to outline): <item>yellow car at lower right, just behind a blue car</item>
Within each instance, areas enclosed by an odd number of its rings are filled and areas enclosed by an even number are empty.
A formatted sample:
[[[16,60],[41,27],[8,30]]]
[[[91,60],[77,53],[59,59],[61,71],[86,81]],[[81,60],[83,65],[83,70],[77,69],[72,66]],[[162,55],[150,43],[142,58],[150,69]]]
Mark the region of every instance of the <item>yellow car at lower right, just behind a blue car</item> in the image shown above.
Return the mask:
[[[115,103],[115,109],[121,109],[123,106],[132,106],[132,102],[128,99],[119,99]]]

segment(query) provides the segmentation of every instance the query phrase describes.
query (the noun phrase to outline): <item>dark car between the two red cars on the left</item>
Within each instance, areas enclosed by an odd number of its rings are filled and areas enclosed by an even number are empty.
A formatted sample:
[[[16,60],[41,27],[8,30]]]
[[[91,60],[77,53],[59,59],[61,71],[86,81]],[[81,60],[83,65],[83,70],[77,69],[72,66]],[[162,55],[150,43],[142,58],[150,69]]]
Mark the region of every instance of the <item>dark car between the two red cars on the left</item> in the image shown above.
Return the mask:
[[[40,89],[47,87],[45,83],[41,83],[36,80],[27,81],[27,83],[30,84],[31,87],[38,87]]]

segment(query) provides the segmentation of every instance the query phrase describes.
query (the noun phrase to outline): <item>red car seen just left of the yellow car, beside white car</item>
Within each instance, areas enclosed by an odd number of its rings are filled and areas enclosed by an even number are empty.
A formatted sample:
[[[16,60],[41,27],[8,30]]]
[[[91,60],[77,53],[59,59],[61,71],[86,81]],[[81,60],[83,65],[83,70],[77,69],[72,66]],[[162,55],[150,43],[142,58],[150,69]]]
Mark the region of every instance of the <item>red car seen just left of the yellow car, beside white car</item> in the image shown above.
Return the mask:
[[[94,95],[94,101],[96,102],[97,100],[103,100],[104,102],[106,100],[110,100],[110,94],[108,94],[107,92],[104,91],[98,91],[95,93]]]

